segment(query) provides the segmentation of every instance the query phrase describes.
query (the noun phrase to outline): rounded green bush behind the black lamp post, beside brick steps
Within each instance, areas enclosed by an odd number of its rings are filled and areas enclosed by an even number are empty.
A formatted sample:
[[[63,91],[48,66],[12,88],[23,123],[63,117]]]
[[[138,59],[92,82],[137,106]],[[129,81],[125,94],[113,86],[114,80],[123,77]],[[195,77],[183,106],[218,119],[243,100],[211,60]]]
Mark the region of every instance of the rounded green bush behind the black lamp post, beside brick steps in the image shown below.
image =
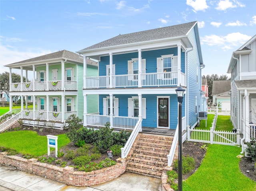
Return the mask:
[[[191,172],[195,168],[195,164],[193,157],[182,155],[182,174]],[[178,171],[178,159],[174,160],[173,169]]]

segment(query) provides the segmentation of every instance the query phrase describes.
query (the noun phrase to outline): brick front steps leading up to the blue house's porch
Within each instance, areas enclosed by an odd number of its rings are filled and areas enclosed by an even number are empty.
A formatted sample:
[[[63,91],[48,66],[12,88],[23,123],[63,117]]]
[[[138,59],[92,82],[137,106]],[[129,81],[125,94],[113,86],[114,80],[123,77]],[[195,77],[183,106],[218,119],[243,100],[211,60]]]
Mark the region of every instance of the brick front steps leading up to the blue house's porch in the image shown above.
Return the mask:
[[[173,137],[139,134],[131,150],[126,171],[161,178],[167,166]]]

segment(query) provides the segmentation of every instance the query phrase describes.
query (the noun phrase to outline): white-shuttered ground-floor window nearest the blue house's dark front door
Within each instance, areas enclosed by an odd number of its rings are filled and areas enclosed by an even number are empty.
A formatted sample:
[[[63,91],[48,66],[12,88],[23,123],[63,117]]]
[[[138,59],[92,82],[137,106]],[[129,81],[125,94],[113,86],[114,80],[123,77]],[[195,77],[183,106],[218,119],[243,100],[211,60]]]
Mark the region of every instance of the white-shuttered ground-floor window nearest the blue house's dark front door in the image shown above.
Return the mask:
[[[139,115],[139,98],[132,96],[128,98],[128,116],[138,117]],[[142,119],[146,119],[146,98],[142,98]]]

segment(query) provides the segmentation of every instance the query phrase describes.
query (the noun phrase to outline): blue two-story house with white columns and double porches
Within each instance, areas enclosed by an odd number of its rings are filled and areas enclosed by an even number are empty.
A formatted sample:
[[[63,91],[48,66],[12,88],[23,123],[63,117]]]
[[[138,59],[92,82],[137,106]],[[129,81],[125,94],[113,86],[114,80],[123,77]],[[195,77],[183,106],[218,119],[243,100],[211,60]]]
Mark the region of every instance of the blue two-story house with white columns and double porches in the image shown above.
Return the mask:
[[[184,93],[182,126],[192,128],[202,110],[201,69],[204,67],[198,23],[189,22],[118,35],[80,51],[84,57],[84,103],[99,95],[98,113],[84,106],[84,126],[132,129],[176,129],[178,102]],[[88,58],[99,62],[98,76],[86,75]]]

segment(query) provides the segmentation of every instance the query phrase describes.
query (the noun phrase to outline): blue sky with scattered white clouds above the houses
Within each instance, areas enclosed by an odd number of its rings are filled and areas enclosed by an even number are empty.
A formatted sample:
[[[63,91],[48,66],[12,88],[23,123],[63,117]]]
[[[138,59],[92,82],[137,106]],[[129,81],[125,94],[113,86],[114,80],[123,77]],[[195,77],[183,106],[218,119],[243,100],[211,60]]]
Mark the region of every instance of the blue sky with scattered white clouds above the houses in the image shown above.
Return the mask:
[[[0,0],[0,73],[6,64],[192,21],[202,74],[226,74],[232,52],[256,34],[256,0]]]

